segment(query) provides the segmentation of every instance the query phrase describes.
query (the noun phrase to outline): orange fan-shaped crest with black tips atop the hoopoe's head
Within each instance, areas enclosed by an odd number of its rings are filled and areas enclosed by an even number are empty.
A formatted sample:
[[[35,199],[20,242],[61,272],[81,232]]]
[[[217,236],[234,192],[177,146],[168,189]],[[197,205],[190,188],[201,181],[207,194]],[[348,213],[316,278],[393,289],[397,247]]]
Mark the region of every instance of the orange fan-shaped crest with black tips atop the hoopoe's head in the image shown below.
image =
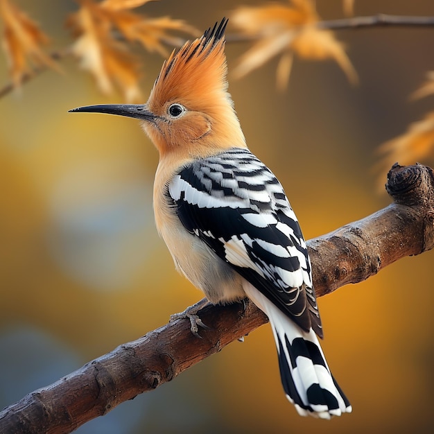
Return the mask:
[[[155,80],[148,100],[150,110],[158,112],[168,101],[182,101],[190,110],[205,111],[210,102],[216,106],[219,101],[230,101],[226,92],[226,25],[227,19],[223,19],[202,37],[172,52]]]

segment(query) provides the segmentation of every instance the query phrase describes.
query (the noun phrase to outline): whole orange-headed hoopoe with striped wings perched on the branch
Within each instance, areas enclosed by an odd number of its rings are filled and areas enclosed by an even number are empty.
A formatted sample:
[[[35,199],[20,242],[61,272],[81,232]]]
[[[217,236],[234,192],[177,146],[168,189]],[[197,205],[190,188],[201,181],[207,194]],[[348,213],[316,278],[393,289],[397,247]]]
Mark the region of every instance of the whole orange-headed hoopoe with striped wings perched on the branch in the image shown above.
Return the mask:
[[[317,335],[311,261],[283,187],[245,144],[227,92],[223,19],[173,51],[143,105],[71,112],[141,120],[159,151],[154,212],[177,270],[214,304],[248,297],[268,318],[284,391],[300,415],[351,412]]]

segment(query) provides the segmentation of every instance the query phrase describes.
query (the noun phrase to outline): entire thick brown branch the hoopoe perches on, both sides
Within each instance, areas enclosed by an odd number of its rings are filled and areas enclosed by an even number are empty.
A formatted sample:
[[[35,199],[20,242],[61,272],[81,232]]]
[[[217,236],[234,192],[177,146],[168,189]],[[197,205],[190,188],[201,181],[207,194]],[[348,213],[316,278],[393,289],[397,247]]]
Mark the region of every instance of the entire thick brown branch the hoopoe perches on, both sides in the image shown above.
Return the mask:
[[[318,296],[363,281],[381,268],[434,246],[431,168],[401,167],[388,174],[394,202],[375,214],[308,242]],[[0,413],[0,432],[70,433],[119,403],[171,381],[192,365],[267,322],[251,302],[207,304],[202,339],[177,320],[120,345],[55,383],[35,390]]]

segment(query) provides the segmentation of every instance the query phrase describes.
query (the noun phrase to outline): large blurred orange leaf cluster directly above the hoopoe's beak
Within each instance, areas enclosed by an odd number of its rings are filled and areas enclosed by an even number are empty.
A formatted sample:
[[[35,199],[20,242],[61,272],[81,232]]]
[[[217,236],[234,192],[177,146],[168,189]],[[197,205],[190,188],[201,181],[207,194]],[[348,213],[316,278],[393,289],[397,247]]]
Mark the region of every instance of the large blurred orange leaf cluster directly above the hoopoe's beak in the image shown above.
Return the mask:
[[[79,0],[80,9],[67,20],[76,41],[72,51],[80,65],[94,76],[102,92],[119,87],[128,102],[141,100],[140,64],[127,42],[166,55],[164,43],[179,44],[168,31],[195,33],[184,21],[168,17],[150,19],[130,9],[150,0]]]

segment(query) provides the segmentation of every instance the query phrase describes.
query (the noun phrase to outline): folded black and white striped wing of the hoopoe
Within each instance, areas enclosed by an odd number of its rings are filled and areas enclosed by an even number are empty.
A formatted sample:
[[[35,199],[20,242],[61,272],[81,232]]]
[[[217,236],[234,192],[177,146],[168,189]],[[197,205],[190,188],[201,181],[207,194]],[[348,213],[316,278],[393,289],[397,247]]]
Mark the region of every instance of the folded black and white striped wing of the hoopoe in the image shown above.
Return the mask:
[[[182,225],[305,330],[322,336],[297,218],[272,172],[232,148],[182,168],[168,185]]]

